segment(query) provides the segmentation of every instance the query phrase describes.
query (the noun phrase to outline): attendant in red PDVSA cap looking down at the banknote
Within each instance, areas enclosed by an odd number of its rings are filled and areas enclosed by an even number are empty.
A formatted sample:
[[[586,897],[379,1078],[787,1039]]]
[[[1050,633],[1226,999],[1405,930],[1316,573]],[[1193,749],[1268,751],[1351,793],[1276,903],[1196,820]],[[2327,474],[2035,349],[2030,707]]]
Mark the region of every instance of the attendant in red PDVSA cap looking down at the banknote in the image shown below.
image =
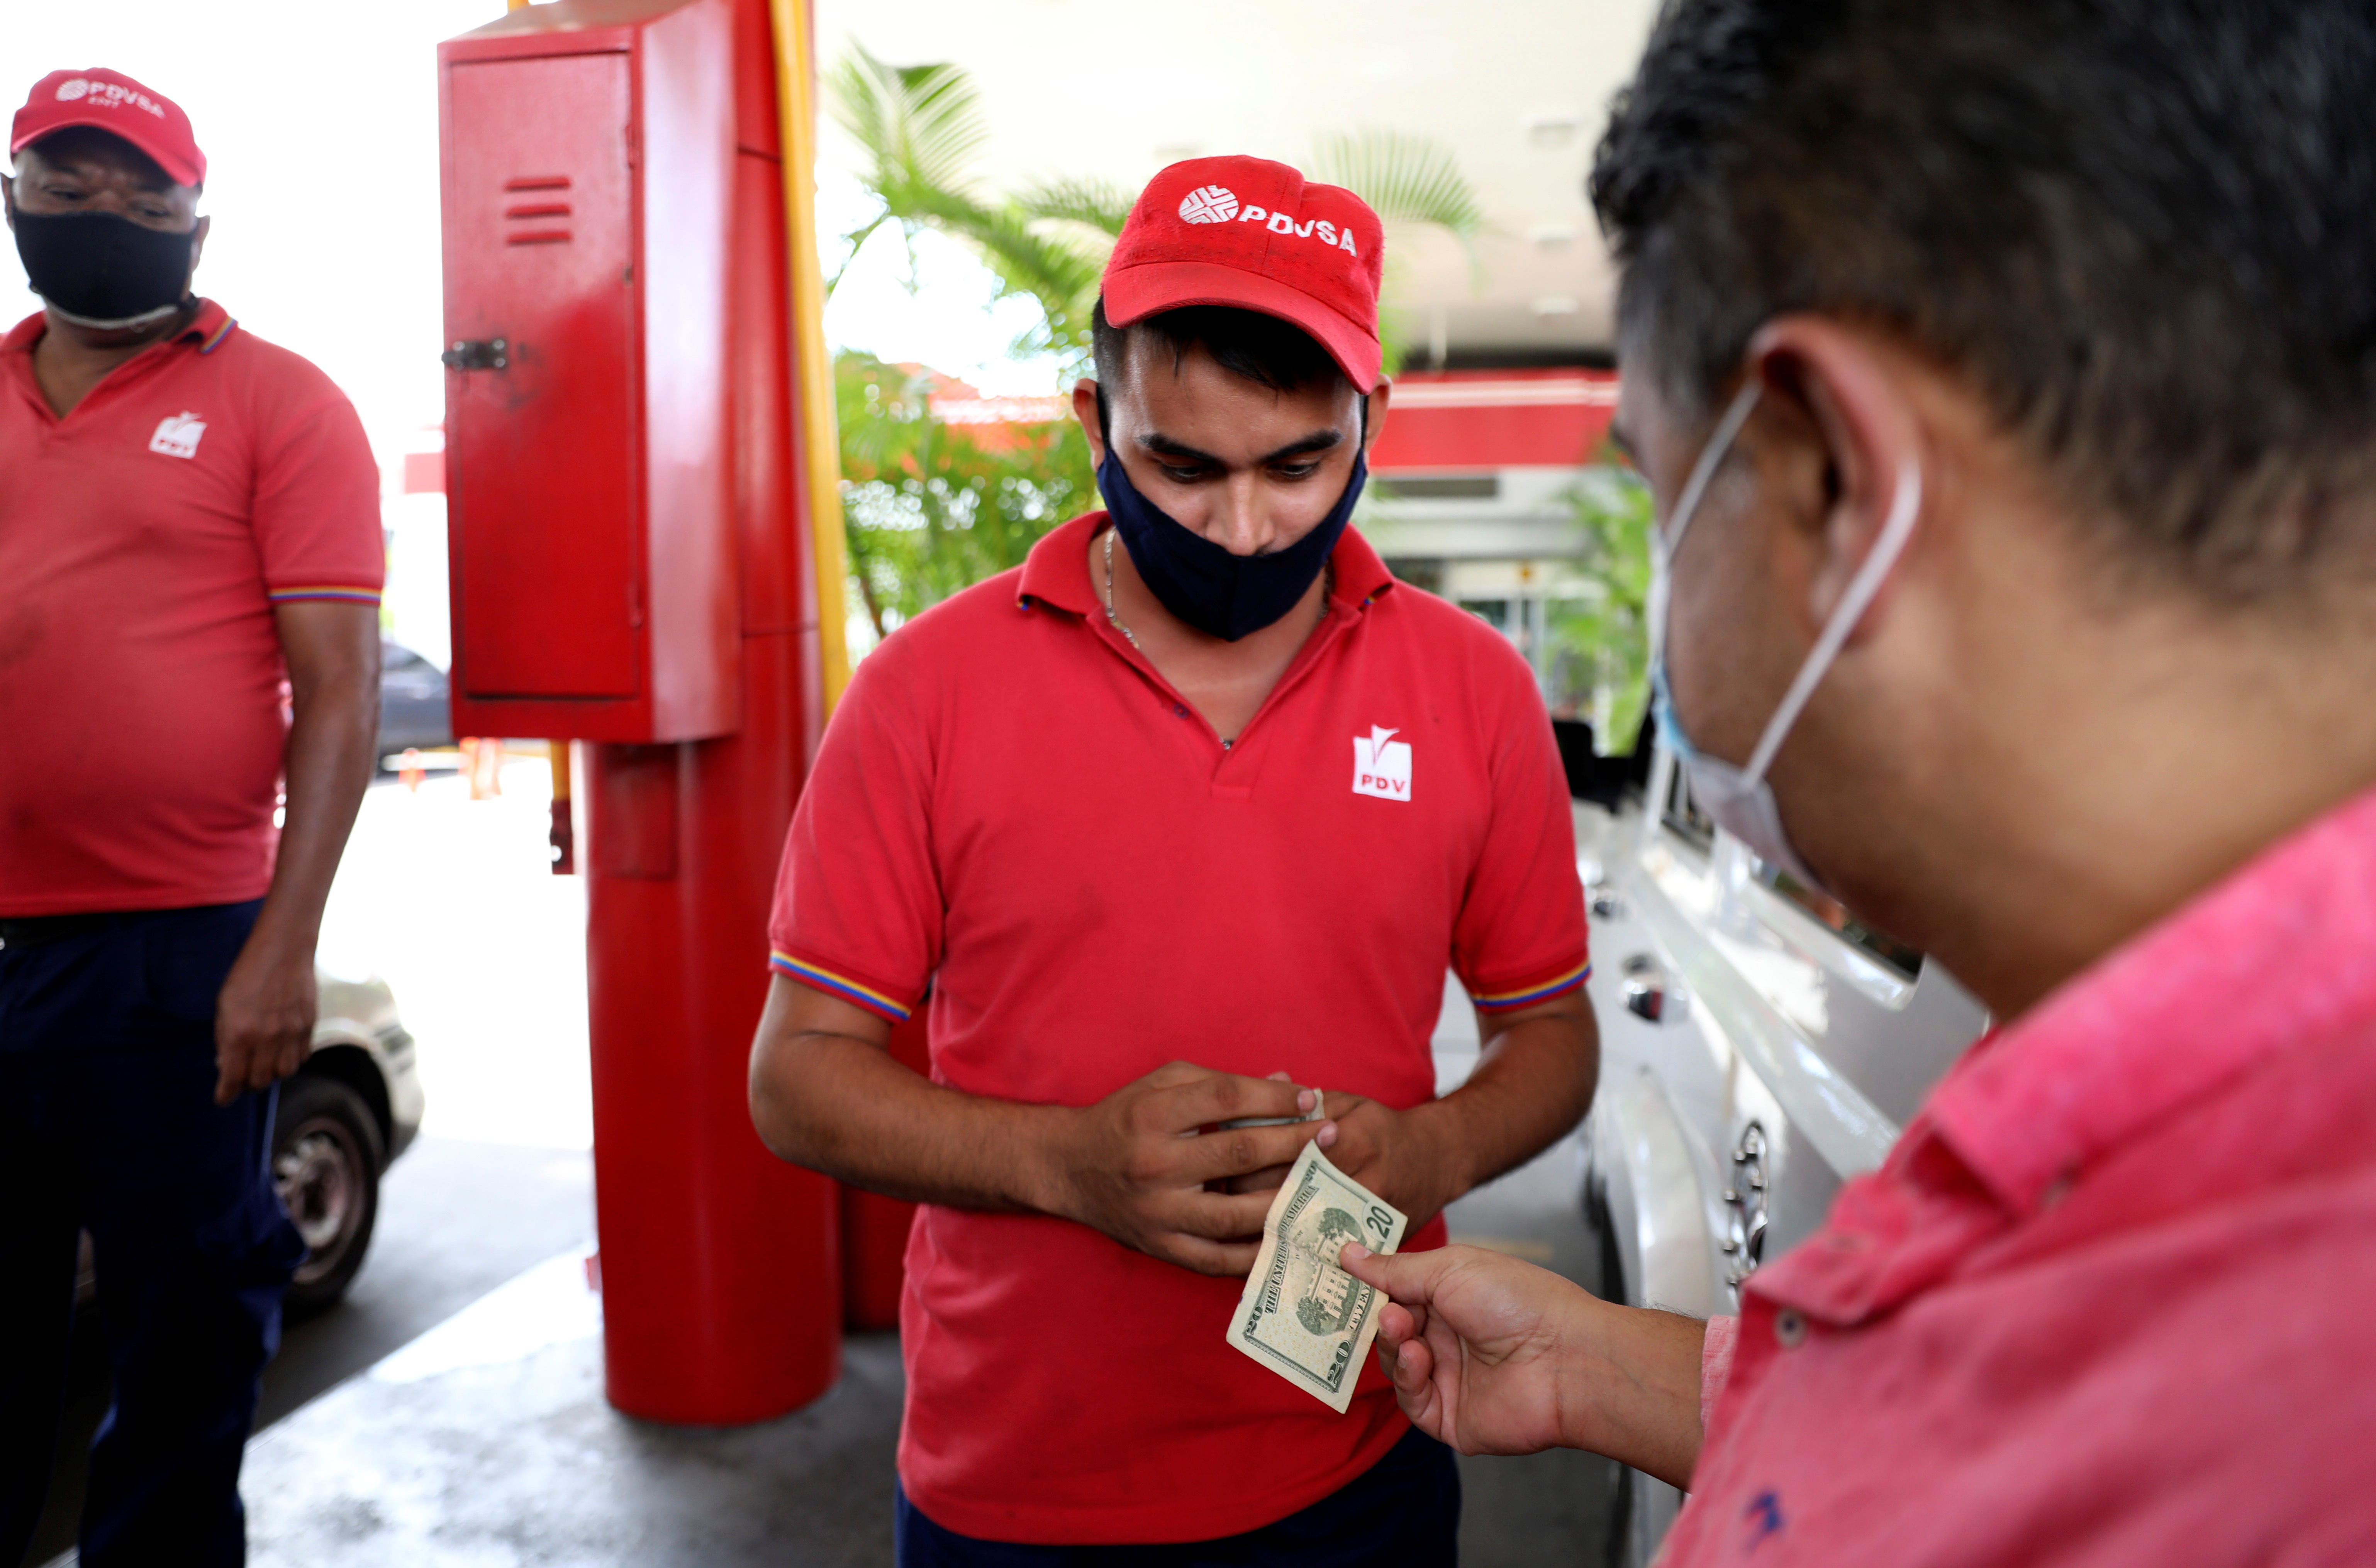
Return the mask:
[[[1074,390],[1110,511],[889,637],[801,796],[751,1105],[924,1205],[910,1568],[1452,1561],[1452,1454],[1376,1368],[1338,1416],[1226,1345],[1304,1140],[1442,1245],[1597,1067],[1533,675],[1347,527],[1378,261],[1376,214],[1283,164],[1157,173]],[[1437,1100],[1447,965],[1485,1055]],[[929,1081],[884,1050],[927,984]],[[1312,1088],[1316,1126],[1200,1133]]]

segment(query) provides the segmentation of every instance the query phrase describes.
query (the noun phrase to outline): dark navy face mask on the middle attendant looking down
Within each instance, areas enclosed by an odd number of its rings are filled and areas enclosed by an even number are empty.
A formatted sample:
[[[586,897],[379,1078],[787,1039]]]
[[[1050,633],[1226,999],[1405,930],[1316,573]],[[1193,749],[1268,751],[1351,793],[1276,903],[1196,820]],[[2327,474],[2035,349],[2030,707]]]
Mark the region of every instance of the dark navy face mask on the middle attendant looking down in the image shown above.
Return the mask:
[[[1105,404],[1100,397],[1100,423]],[[1369,409],[1364,409],[1364,425]],[[1369,482],[1369,456],[1354,454],[1345,494],[1321,518],[1319,527],[1269,556],[1233,556],[1205,535],[1178,523],[1155,501],[1138,494],[1121,470],[1114,444],[1105,444],[1098,463],[1098,492],[1114,518],[1114,532],[1131,551],[1138,577],[1155,589],[1164,608],[1207,637],[1238,641],[1293,611],[1312,580],[1328,565],[1335,542],[1352,520],[1352,506]]]

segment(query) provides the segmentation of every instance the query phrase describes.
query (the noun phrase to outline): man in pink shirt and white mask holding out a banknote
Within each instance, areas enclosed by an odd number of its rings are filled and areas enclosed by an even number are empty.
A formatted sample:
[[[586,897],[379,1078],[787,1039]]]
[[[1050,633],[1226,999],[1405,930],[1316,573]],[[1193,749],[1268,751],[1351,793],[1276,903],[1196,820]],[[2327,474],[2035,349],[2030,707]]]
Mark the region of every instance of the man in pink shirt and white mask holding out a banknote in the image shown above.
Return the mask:
[[[1592,197],[1694,791],[2001,1019],[1739,1319],[1404,1411],[1699,1563],[2376,1561],[2376,10],[1670,0]]]

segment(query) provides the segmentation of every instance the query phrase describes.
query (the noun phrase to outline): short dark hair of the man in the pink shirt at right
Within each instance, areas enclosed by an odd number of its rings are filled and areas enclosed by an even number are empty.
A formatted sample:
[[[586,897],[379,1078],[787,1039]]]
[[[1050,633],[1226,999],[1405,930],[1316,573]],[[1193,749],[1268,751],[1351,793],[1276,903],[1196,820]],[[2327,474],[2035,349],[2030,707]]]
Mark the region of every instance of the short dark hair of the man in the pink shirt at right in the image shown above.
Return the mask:
[[[1668,0],[1590,185],[1620,344],[1706,421],[1770,316],[1879,325],[2131,561],[2298,582],[2376,468],[2371,81],[2369,0]]]

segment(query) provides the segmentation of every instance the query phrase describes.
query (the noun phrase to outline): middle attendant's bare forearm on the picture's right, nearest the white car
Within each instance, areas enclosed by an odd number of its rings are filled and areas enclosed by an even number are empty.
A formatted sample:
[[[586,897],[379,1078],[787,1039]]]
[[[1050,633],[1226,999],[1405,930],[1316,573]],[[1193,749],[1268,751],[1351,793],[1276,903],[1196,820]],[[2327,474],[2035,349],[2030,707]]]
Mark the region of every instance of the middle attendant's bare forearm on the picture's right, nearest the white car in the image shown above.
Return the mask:
[[[1592,1109],[1597,1081],[1599,1029],[1582,998],[1495,1033],[1461,1088],[1414,1112],[1440,1150],[1445,1202],[1563,1138]]]

